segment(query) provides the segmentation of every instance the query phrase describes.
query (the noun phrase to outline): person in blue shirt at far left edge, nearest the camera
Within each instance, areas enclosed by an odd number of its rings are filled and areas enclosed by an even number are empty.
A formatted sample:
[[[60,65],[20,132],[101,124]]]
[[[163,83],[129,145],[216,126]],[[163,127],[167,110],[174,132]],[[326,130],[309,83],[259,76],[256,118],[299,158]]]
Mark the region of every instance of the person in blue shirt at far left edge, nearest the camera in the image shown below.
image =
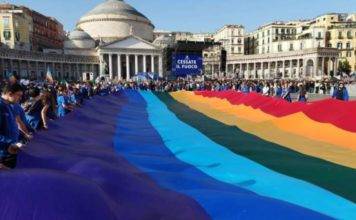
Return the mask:
[[[19,84],[7,84],[0,98],[0,167],[14,168],[16,154],[23,144],[19,142],[20,131],[16,123],[12,104],[17,103],[23,95]]]

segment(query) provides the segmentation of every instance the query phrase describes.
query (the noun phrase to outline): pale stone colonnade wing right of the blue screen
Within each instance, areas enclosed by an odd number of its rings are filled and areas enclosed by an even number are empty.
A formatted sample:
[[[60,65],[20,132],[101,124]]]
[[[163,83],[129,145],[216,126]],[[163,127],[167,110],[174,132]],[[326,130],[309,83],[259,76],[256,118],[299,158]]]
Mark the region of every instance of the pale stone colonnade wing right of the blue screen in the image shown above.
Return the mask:
[[[314,48],[275,54],[228,56],[227,73],[246,79],[321,79],[337,70],[339,52]]]

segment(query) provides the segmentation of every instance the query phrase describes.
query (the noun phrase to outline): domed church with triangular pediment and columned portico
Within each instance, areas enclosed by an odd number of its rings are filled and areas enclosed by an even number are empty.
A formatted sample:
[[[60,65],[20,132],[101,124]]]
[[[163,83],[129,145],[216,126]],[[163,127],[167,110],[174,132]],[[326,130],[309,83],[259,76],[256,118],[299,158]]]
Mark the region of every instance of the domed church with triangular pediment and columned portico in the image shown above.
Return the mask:
[[[152,43],[154,25],[123,0],[106,0],[79,19],[65,53],[97,55],[100,76],[129,80],[137,73],[163,76],[161,47]]]

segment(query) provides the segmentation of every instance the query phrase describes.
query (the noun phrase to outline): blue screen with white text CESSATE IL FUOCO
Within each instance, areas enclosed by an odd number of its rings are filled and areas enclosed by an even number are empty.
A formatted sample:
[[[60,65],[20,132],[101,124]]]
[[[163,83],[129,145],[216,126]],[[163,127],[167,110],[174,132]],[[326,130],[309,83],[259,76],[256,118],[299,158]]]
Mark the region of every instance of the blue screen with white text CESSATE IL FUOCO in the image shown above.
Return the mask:
[[[202,73],[203,58],[196,54],[173,54],[172,73],[175,76],[198,75]]]

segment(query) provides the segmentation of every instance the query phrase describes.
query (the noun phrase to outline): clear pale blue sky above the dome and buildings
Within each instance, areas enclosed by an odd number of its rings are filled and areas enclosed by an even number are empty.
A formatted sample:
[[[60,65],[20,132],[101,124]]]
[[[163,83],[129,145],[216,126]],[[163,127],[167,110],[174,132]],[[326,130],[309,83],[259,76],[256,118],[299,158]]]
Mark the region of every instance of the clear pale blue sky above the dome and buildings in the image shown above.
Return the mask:
[[[25,5],[55,17],[70,31],[86,12],[105,0],[0,0]],[[146,15],[158,30],[215,32],[225,24],[253,31],[272,21],[356,13],[356,0],[126,0]]]

